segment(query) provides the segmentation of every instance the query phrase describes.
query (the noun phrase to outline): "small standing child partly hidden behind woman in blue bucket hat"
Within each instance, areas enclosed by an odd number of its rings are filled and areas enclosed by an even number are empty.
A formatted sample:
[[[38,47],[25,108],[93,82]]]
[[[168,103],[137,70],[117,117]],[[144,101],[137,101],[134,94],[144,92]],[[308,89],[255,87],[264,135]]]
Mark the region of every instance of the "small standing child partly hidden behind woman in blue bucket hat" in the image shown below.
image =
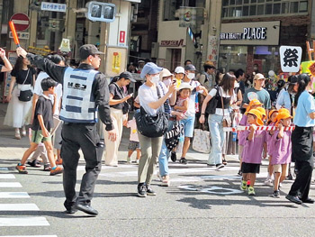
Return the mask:
[[[137,132],[136,119],[133,117],[132,120],[128,121],[127,128],[130,128],[130,139],[128,144],[128,157],[127,164],[131,164],[131,155],[134,150],[137,150],[137,160],[136,163],[139,164],[139,159],[141,156],[140,143]]]

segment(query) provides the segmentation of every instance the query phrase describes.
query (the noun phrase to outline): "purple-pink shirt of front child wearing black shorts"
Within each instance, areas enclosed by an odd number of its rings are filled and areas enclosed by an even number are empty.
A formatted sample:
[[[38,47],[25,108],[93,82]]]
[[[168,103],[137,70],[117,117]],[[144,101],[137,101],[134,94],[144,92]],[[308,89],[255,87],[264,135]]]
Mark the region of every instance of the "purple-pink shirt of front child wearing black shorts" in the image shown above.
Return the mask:
[[[246,138],[249,131],[245,131]],[[245,163],[260,164],[262,160],[262,153],[264,149],[264,143],[267,141],[266,131],[255,131],[252,141],[246,139],[243,149],[242,159]]]

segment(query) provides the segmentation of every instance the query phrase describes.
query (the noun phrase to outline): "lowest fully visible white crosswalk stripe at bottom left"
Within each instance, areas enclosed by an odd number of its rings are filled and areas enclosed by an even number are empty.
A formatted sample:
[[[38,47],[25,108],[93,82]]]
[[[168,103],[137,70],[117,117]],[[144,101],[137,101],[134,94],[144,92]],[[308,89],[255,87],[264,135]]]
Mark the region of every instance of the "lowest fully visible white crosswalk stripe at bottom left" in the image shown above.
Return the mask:
[[[0,226],[47,226],[50,225],[45,217],[14,217],[0,218]]]

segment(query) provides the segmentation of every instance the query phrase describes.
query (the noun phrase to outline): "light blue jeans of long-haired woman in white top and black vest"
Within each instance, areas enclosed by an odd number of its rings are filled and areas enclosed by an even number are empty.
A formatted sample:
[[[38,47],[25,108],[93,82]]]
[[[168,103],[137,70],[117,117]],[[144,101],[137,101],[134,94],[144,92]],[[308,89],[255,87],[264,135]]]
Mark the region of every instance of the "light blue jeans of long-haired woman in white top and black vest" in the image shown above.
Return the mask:
[[[210,114],[208,118],[211,134],[211,152],[208,160],[208,164],[210,165],[222,163],[222,147],[225,140],[222,120],[223,116],[217,114]]]

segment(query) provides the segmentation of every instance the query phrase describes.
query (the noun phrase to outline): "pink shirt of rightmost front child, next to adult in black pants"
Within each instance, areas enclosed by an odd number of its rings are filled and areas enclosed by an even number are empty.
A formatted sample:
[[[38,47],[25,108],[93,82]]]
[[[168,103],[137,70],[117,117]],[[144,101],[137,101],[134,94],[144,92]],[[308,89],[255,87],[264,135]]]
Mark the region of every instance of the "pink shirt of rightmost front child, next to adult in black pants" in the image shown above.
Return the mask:
[[[291,131],[284,131],[284,137],[279,139],[279,131],[275,131],[272,136],[273,150],[271,155],[271,165],[289,164],[291,162],[292,143],[291,143]]]

